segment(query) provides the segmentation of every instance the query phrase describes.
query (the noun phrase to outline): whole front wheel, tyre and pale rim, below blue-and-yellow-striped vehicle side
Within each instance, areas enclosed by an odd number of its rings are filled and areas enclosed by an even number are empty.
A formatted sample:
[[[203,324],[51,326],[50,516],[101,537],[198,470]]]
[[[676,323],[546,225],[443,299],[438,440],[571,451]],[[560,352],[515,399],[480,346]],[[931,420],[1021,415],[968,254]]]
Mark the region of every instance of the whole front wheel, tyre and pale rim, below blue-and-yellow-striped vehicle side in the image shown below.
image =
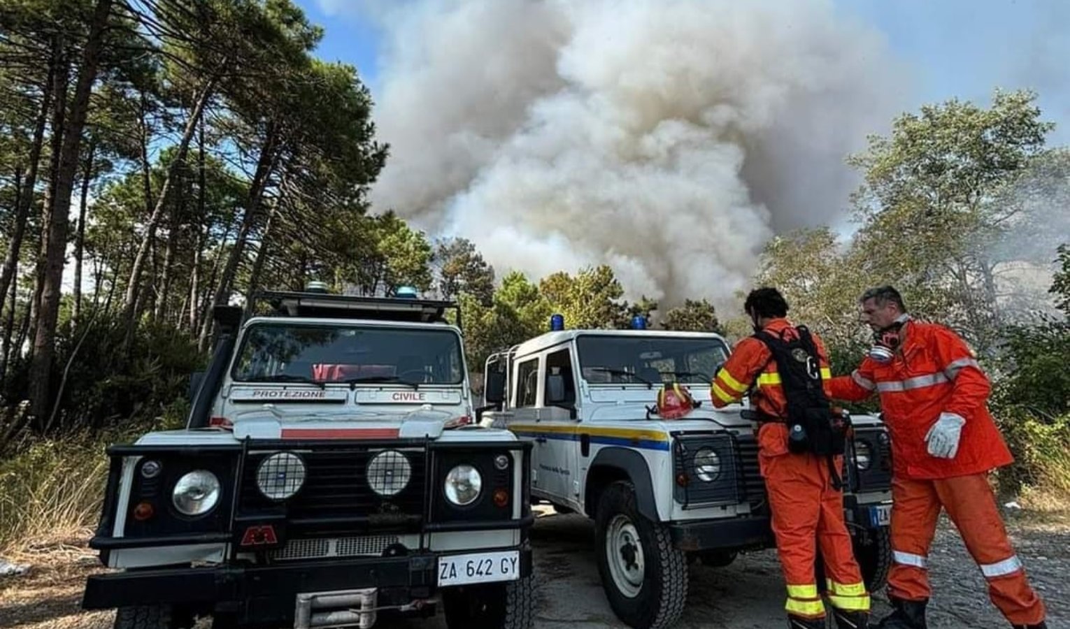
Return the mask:
[[[688,565],[669,531],[639,515],[630,482],[614,482],[598,501],[598,572],[613,612],[636,629],[661,629],[679,618]]]

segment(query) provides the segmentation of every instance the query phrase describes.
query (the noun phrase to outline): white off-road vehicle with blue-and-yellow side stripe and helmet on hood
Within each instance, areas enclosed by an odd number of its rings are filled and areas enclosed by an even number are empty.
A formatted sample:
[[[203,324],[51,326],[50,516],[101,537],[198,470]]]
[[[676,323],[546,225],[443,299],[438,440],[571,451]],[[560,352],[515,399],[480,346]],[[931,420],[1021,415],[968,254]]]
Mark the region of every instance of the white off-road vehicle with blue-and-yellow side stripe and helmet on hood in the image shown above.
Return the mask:
[[[610,605],[628,625],[652,629],[679,617],[692,559],[723,566],[776,543],[747,401],[717,410],[709,399],[728,343],[646,329],[643,318],[633,327],[567,331],[554,316],[551,332],[488,358],[480,423],[534,443],[533,498],[595,521]],[[657,394],[673,381],[699,406],[666,419]],[[891,455],[876,418],[853,421],[843,508],[876,589],[890,565]],[[820,562],[815,571],[824,583]]]

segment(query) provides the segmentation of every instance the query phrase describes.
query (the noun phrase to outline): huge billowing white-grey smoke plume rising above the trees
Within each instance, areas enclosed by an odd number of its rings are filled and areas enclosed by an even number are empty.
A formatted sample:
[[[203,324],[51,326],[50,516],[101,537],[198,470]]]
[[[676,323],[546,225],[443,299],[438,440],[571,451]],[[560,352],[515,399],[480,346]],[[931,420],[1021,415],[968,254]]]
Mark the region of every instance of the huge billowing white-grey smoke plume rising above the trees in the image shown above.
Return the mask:
[[[719,306],[778,230],[829,223],[843,163],[904,104],[830,2],[426,0],[384,11],[372,190],[500,275],[608,263]]]

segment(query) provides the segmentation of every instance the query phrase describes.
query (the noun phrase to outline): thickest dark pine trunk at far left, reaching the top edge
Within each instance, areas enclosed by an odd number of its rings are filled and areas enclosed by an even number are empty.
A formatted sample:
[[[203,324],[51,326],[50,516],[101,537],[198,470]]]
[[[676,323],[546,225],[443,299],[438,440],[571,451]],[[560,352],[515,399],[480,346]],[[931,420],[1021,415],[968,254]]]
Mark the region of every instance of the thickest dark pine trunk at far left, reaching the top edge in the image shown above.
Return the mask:
[[[49,375],[52,368],[52,350],[56,337],[56,321],[59,316],[60,288],[63,280],[63,258],[66,249],[67,212],[71,208],[71,193],[74,173],[78,168],[78,149],[81,131],[89,111],[89,97],[96,80],[96,65],[104,47],[104,31],[111,13],[111,0],[97,0],[89,35],[82,50],[81,71],[75,86],[71,104],[71,118],[63,132],[63,147],[60,153],[59,171],[52,186],[55,196],[50,199],[47,221],[47,246],[45,247],[45,275],[41,294],[41,310],[34,338],[33,364],[30,369],[30,413],[39,420],[49,410]],[[57,98],[62,102],[61,98]]]

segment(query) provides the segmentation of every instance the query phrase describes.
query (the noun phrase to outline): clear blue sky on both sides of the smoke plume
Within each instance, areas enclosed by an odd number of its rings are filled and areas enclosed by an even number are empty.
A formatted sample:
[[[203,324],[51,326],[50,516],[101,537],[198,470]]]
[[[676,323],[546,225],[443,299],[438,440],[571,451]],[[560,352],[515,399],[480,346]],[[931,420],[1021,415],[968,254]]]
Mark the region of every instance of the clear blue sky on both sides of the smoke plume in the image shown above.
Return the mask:
[[[295,0],[325,35],[317,55],[355,65],[378,88],[379,32],[358,5],[368,0]],[[372,0],[374,1],[374,0]],[[1070,143],[1070,2],[1067,0],[835,0],[844,14],[884,33],[913,71],[916,105],[957,96],[987,103],[996,86],[1033,88],[1051,140]]]

